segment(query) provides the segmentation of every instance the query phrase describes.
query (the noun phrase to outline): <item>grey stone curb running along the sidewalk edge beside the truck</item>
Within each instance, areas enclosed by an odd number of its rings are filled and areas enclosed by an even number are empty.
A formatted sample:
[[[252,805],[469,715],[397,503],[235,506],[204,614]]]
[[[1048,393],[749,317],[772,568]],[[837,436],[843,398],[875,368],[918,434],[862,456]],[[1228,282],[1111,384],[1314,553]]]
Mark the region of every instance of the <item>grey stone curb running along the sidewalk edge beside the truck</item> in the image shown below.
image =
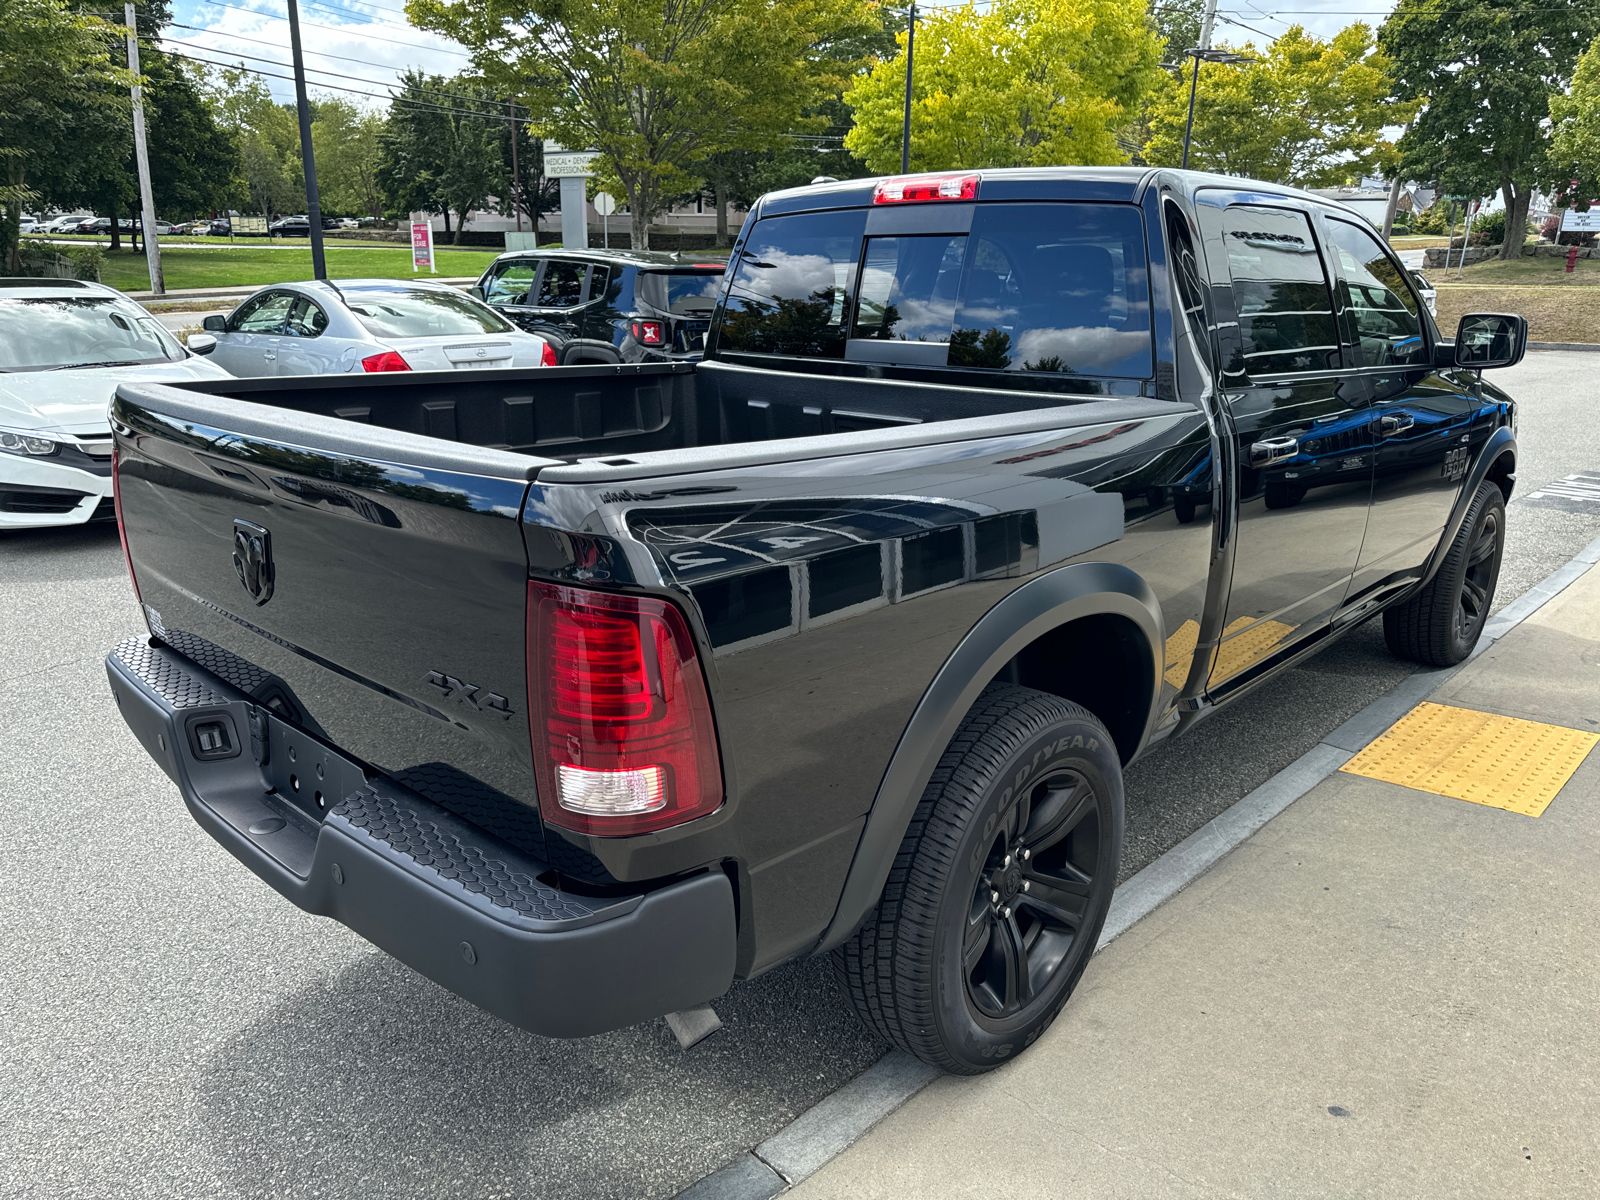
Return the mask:
[[[1094,952],[1102,950],[1142,917],[1194,883],[1224,854],[1344,766],[1357,750],[1427,699],[1461,667],[1558,597],[1595,563],[1600,563],[1600,538],[1490,618],[1466,662],[1408,675],[1394,691],[1368,704],[1261,787],[1237,800],[1117,888]],[[859,1141],[939,1074],[901,1050],[890,1051],[754,1150],[690,1184],[675,1200],[771,1200]]]

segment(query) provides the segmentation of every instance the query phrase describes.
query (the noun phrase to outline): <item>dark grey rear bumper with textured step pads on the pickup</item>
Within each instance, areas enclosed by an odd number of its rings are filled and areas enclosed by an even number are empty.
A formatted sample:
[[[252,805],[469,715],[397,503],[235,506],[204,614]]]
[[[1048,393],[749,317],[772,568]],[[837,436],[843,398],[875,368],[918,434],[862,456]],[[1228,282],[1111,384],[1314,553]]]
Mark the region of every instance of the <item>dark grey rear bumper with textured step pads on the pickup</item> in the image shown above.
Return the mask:
[[[546,864],[368,778],[168,646],[128,638],[106,672],[128,728],[229,853],[522,1029],[587,1037],[693,1008],[733,981],[720,872],[622,898],[562,891]]]

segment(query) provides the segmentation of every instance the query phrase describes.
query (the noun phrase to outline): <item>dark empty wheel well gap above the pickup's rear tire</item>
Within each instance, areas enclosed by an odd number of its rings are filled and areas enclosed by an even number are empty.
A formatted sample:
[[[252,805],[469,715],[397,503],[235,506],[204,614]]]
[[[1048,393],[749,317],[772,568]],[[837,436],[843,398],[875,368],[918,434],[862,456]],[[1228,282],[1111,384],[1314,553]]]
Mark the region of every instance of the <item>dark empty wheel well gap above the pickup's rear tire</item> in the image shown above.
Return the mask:
[[[1139,749],[1154,686],[1150,643],[1133,621],[1098,613],[1040,634],[995,680],[1048,691],[1099,717],[1126,763]]]

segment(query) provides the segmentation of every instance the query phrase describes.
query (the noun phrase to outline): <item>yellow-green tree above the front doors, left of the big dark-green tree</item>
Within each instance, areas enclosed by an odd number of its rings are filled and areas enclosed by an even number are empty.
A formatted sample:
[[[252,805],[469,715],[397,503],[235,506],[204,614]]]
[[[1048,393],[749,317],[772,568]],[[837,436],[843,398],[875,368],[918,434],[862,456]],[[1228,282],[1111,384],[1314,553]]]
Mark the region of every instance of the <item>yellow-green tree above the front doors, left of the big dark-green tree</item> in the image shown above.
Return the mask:
[[[1328,187],[1373,170],[1387,154],[1384,126],[1406,120],[1387,104],[1389,59],[1363,24],[1326,42],[1293,26],[1267,50],[1242,53],[1256,61],[1200,67],[1190,166]],[[1157,166],[1182,162],[1192,70],[1194,59],[1152,101],[1144,157]]]

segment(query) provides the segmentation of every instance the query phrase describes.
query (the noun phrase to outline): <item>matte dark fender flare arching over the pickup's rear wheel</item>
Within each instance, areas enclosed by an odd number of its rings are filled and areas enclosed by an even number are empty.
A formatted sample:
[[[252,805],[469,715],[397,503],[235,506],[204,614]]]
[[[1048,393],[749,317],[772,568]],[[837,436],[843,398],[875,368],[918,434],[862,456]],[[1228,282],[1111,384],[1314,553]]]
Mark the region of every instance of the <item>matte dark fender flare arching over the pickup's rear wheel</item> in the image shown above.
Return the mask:
[[[1166,645],[1162,605],[1150,586],[1118,563],[1074,563],[1022,584],[979,618],[917,704],[872,798],[838,907],[816,954],[848,941],[878,902],[923,789],[989,680],[1040,635],[1069,621],[1102,614],[1128,618],[1149,643],[1154,686],[1141,744],[1149,739],[1162,694]]]

